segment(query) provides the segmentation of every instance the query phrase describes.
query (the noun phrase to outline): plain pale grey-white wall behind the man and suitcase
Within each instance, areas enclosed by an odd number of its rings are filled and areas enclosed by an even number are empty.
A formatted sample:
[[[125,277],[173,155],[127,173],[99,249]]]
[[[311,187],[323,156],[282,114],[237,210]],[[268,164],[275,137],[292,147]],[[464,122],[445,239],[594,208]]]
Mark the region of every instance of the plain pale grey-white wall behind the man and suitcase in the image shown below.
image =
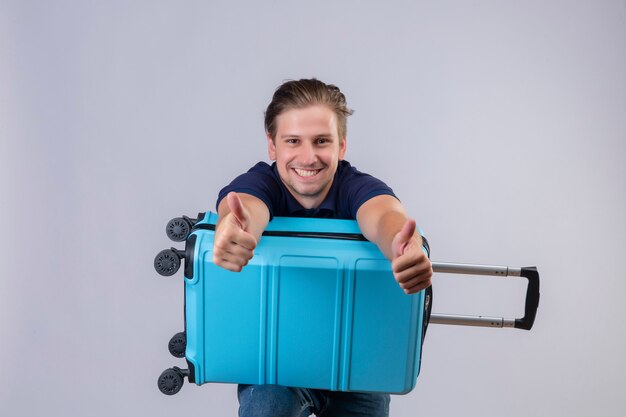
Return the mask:
[[[182,279],[152,260],[312,76],[434,260],[542,274],[531,332],[431,326],[391,415],[623,415],[621,0],[0,1],[1,413],[236,415],[231,385],[159,393]],[[523,310],[521,280],[434,282],[438,313]]]

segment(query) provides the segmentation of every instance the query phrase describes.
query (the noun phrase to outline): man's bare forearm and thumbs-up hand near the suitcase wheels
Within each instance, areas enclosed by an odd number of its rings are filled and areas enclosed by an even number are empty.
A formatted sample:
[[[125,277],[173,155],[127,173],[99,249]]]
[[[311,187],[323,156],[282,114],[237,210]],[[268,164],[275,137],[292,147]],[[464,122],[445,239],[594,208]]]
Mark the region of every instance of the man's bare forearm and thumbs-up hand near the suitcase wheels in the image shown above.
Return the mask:
[[[230,192],[217,208],[213,263],[240,272],[254,256],[270,219],[265,203],[250,194]]]

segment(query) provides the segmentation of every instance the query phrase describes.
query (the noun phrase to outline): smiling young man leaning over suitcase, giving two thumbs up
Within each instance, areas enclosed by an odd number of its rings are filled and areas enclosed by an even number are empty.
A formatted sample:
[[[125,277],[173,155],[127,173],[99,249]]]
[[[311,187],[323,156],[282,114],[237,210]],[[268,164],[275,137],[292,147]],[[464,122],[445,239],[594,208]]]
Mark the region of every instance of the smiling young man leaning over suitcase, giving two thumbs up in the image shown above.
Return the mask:
[[[400,287],[413,294],[431,284],[415,221],[382,181],[344,160],[352,114],[334,85],[288,81],[265,113],[271,166],[259,162],[222,189],[215,231],[216,265],[241,271],[273,216],[356,219],[391,261]],[[239,386],[240,416],[388,416],[389,396],[276,385]]]

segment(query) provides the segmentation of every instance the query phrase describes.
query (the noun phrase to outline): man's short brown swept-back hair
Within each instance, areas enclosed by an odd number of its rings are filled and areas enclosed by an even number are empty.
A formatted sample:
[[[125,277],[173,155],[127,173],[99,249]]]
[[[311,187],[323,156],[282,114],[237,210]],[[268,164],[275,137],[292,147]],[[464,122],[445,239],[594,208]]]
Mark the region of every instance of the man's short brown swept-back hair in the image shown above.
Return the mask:
[[[326,105],[335,113],[339,140],[343,141],[348,130],[347,118],[353,111],[348,108],[346,97],[339,87],[315,78],[290,80],[276,89],[265,111],[265,131],[274,140],[278,116],[291,109],[301,109],[315,104]]]

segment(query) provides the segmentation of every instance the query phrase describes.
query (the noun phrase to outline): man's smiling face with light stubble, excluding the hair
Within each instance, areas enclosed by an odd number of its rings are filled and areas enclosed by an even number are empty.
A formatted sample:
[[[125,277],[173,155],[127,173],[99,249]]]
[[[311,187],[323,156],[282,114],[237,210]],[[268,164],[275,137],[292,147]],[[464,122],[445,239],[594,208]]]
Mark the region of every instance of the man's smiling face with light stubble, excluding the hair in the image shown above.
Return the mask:
[[[315,208],[330,190],[346,153],[337,116],[324,105],[291,109],[276,118],[276,137],[267,135],[268,153],[278,174],[304,208]],[[341,143],[340,143],[341,142]]]

